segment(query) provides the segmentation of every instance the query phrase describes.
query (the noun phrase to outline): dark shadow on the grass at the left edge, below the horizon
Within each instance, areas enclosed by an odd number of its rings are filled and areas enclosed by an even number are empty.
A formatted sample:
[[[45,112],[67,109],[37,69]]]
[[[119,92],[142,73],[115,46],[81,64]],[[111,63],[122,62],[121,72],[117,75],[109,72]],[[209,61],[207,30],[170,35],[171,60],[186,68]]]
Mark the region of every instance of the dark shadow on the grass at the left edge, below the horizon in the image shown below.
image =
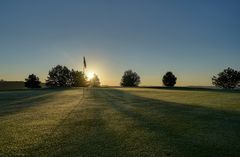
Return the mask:
[[[60,90],[32,90],[0,93],[0,117],[21,112],[50,100]]]

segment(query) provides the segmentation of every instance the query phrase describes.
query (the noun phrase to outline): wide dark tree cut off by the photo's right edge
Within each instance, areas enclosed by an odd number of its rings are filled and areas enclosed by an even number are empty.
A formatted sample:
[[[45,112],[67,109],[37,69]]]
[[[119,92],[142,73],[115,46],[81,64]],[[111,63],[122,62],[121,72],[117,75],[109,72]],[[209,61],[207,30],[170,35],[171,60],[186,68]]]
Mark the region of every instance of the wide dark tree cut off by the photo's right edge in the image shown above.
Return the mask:
[[[232,68],[224,69],[218,74],[218,76],[213,76],[212,84],[216,87],[233,89],[240,83],[240,72]]]

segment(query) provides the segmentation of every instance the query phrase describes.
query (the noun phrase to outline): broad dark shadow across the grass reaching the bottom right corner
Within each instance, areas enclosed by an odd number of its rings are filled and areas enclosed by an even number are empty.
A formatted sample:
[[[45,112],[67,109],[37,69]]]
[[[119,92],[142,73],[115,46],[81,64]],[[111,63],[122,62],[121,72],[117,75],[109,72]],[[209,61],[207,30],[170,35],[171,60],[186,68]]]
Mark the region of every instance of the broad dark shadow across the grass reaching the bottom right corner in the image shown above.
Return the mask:
[[[158,136],[183,156],[239,156],[240,113],[143,98],[115,89],[99,91],[136,127]],[[170,153],[171,155],[171,153]]]

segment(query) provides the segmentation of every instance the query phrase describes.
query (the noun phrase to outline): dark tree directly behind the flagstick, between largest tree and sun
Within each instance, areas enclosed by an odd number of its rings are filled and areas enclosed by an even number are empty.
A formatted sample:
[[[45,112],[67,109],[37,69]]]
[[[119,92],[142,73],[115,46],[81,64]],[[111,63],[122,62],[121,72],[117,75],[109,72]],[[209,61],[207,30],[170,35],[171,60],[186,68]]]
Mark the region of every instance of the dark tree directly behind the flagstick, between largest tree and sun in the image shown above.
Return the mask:
[[[81,71],[74,71],[71,72],[72,75],[72,86],[73,87],[86,87],[87,86],[87,78]]]

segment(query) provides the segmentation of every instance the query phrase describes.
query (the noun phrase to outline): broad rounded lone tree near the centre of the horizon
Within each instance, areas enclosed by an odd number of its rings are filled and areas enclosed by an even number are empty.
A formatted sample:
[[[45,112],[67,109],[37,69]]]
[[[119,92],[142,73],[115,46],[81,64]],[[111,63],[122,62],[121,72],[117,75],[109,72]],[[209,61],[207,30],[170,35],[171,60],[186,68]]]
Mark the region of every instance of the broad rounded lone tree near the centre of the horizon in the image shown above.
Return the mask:
[[[120,85],[123,87],[137,87],[140,84],[140,76],[132,70],[127,70],[122,76]]]

